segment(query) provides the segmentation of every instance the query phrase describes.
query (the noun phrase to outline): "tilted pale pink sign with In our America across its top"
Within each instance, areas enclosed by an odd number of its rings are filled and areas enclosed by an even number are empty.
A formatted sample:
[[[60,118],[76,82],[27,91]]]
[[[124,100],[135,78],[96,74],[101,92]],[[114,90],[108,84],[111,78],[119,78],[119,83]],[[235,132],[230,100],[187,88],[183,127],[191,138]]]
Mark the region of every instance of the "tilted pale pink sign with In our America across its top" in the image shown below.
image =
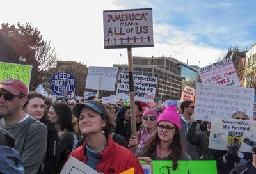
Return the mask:
[[[198,69],[202,83],[241,86],[232,59],[223,59]]]

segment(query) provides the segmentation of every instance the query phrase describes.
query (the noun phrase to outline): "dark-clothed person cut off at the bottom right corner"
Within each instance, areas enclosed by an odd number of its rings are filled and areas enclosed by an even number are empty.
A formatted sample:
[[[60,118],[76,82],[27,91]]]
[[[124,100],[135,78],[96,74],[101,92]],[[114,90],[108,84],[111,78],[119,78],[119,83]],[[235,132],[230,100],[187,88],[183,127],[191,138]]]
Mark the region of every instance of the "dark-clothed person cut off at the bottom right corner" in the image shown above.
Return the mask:
[[[236,162],[235,168],[229,174],[254,174],[256,173],[256,144],[252,148],[252,159],[246,162]]]

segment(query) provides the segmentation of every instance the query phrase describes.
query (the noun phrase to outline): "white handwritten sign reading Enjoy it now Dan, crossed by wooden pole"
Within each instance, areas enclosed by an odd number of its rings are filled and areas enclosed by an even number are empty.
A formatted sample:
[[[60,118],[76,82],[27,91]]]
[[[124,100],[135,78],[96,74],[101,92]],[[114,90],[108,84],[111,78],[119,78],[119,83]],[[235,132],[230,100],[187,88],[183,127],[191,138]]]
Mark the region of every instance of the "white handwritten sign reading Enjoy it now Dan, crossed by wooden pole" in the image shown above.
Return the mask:
[[[154,103],[157,78],[143,75],[133,75],[135,100]],[[129,99],[129,74],[119,73],[116,96]]]

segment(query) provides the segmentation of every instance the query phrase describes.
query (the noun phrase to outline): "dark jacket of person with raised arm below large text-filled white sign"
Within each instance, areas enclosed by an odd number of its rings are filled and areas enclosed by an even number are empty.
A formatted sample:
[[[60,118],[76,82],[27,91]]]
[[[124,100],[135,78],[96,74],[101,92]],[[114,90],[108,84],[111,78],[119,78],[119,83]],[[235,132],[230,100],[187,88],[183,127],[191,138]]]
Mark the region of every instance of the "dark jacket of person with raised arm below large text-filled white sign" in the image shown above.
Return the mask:
[[[193,122],[187,132],[187,140],[192,145],[196,145],[198,149],[198,156],[200,159],[212,160],[218,157],[223,157],[226,151],[209,149],[209,136],[210,132],[196,132],[197,123]]]

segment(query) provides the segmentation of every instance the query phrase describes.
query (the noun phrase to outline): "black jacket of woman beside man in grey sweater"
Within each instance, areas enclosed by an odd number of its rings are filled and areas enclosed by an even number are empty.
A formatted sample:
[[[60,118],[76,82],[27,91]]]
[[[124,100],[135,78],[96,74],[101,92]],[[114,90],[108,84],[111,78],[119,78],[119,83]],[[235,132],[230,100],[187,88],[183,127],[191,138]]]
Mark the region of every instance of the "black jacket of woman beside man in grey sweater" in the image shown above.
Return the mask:
[[[47,126],[47,150],[45,156],[44,173],[55,171],[60,160],[60,138],[54,124]]]

